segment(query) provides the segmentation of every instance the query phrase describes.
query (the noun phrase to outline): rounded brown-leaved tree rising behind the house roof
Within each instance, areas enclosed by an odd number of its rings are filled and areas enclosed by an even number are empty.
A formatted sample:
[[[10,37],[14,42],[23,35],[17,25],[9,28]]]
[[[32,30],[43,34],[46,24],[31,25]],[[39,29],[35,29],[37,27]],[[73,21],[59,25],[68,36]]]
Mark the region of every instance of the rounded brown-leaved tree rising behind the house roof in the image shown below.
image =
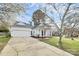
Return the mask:
[[[40,9],[35,11],[33,13],[33,22],[34,22],[34,25],[39,25],[41,22],[44,21],[44,17],[45,17],[45,13],[43,13]]]

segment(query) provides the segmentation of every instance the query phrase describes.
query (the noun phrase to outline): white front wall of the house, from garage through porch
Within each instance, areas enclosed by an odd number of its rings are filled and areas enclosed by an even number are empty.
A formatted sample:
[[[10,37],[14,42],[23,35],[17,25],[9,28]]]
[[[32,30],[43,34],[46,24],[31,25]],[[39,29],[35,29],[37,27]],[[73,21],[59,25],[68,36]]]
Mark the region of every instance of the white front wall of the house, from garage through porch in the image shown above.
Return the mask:
[[[42,31],[43,31],[43,35],[42,35]],[[28,37],[28,36],[51,37],[53,33],[53,31],[50,29],[31,30],[30,28],[22,28],[22,27],[11,27],[10,32],[12,37]]]

